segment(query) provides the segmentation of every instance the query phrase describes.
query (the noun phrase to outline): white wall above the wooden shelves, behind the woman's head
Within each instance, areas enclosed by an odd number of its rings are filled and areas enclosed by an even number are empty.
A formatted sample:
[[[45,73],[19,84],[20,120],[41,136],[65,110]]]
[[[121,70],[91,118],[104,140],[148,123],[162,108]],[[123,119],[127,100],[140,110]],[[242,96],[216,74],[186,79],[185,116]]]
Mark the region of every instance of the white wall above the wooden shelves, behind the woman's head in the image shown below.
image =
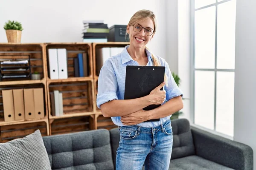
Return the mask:
[[[21,42],[81,42],[82,20],[105,20],[108,26],[127,25],[140,9],[154,11],[158,30],[148,47],[166,58],[166,0],[1,0],[0,42],[7,42],[3,25],[23,25]],[[172,21],[170,21],[172,22]]]

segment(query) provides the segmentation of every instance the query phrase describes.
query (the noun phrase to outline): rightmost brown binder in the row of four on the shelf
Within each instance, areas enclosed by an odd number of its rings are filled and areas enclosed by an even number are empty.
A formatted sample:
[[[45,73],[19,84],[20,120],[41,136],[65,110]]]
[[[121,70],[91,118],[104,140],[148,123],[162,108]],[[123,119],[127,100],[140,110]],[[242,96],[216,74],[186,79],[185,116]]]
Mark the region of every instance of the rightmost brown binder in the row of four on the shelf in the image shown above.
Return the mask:
[[[44,91],[43,88],[34,88],[35,119],[44,119]]]

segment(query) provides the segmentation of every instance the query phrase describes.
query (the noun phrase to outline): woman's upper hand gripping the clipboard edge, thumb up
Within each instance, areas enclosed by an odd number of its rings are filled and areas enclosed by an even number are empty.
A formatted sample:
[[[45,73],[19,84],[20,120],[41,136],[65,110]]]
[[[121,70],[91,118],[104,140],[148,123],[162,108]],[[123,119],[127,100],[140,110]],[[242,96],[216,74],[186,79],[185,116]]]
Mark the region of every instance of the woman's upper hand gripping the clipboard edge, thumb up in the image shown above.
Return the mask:
[[[150,94],[147,96],[149,102],[151,102],[151,105],[160,105],[162,104],[166,99],[166,91],[160,90],[165,85],[165,82],[162,82],[159,86],[154,88],[150,92]]]

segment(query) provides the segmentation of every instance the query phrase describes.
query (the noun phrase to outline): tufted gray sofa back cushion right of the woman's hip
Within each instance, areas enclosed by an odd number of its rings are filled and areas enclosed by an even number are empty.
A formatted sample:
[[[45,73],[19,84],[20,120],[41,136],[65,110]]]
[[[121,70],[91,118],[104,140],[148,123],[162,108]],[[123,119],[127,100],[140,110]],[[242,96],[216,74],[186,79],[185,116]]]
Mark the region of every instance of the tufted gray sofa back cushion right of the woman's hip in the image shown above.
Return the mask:
[[[192,133],[187,119],[172,120],[173,147],[171,159],[195,155]]]

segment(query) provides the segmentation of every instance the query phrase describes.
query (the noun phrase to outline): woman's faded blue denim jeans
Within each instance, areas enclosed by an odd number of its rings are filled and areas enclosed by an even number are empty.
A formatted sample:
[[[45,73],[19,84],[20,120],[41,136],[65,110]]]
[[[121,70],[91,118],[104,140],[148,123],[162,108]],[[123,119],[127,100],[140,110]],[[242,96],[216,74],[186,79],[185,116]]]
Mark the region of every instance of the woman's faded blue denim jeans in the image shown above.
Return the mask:
[[[168,170],[172,155],[172,126],[167,120],[157,127],[119,127],[116,170]]]

